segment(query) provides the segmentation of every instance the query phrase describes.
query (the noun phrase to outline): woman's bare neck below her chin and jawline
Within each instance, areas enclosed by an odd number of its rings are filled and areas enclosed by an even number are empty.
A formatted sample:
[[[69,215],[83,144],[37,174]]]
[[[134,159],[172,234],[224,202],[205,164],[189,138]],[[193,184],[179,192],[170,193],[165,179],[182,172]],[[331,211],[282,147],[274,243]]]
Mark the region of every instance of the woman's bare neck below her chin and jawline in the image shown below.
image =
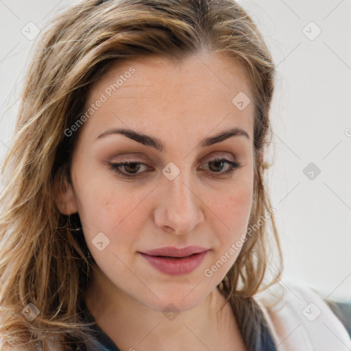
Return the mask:
[[[218,289],[195,308],[166,315],[126,295],[97,269],[86,306],[121,350],[215,350],[219,339],[226,345],[222,350],[243,350],[232,308]]]

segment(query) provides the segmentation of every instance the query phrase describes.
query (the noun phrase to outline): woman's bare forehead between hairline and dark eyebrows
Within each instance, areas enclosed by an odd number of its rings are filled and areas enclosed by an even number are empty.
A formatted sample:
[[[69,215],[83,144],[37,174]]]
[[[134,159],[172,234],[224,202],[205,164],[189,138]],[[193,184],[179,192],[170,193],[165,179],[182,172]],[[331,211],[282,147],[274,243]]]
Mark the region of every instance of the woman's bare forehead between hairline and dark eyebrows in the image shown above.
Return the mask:
[[[221,123],[221,128],[241,127],[252,134],[253,104],[239,110],[233,103],[239,93],[252,101],[245,69],[233,58],[196,54],[175,63],[153,56],[115,62],[90,88],[85,108],[106,98],[88,121],[96,134],[121,123],[173,133],[180,125],[197,127],[206,134]]]

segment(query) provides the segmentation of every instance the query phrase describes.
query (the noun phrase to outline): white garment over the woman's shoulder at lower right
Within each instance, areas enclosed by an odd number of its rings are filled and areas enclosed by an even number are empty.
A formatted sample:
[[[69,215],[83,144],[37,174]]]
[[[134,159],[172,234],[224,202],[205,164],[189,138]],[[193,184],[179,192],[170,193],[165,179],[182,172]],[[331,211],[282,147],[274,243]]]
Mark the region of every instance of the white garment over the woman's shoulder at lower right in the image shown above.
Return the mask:
[[[351,351],[348,331],[312,289],[281,281],[257,293],[254,300],[278,351]]]

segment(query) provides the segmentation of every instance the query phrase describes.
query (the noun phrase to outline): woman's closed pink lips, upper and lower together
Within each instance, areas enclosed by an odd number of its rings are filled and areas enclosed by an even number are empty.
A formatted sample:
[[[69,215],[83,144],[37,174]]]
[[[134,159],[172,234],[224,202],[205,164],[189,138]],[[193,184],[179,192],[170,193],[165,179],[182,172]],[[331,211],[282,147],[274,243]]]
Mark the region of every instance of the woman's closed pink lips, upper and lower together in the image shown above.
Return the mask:
[[[189,274],[202,263],[210,250],[199,246],[162,247],[156,250],[140,252],[141,256],[155,269],[171,276]]]

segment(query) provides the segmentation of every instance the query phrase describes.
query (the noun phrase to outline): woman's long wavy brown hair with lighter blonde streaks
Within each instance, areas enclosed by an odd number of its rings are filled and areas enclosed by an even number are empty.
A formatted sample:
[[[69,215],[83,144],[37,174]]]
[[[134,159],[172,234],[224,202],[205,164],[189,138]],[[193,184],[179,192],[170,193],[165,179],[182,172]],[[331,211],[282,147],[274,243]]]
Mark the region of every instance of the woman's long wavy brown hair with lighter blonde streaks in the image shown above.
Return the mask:
[[[49,350],[47,342],[59,339],[63,350],[97,345],[80,315],[92,261],[79,216],[62,215],[53,198],[53,181],[64,186],[70,180],[79,135],[64,131],[83,113],[91,84],[114,62],[151,55],[181,62],[203,51],[226,53],[242,64],[254,96],[249,227],[256,227],[218,289],[232,305],[247,348],[256,350],[261,314],[252,296],[282,273],[264,181],[269,165],[259,158],[271,138],[275,67],[256,25],[233,0],[84,0],[60,12],[36,39],[11,151],[1,169],[0,348]],[[272,252],[278,252],[278,271],[265,283]],[[39,311],[32,321],[23,313],[29,303]]]

